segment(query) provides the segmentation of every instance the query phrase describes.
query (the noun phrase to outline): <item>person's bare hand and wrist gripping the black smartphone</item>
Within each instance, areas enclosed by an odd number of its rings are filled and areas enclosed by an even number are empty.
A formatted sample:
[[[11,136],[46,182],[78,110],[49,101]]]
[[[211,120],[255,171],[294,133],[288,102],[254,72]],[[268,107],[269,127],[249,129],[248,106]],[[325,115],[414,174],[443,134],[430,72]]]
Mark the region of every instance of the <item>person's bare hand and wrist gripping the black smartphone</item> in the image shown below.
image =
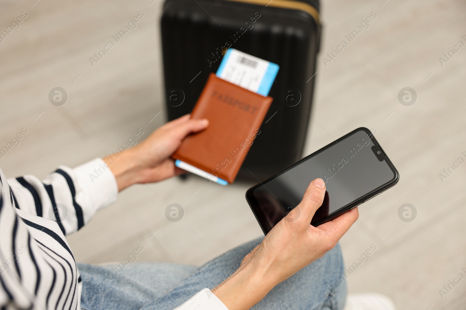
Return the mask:
[[[331,250],[358,218],[357,208],[317,227],[310,225],[322,205],[325,183],[315,179],[302,201],[269,231],[240,268],[212,292],[229,310],[246,310],[275,285]]]

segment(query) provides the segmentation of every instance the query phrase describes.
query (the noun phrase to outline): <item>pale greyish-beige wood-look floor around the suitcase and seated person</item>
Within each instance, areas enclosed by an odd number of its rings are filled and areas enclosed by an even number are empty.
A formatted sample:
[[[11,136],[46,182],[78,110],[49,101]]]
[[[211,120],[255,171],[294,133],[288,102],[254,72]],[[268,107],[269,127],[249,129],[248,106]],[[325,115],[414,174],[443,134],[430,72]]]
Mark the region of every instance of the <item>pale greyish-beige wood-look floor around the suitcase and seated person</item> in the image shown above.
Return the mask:
[[[21,12],[28,15],[0,42],[0,146],[27,129],[21,144],[0,159],[8,177],[41,177],[56,165],[104,156],[138,128],[147,136],[165,121],[163,0],[35,1],[0,3],[1,31]],[[89,57],[140,11],[137,28],[92,66]],[[370,27],[325,66],[322,57],[371,12],[377,17]],[[465,13],[459,0],[322,3],[322,50],[304,155],[356,127],[377,130],[401,178],[359,208],[341,244],[348,267],[377,246],[349,276],[349,290],[383,293],[397,309],[464,309],[466,280],[443,299],[439,290],[459,273],[466,276],[466,164],[443,183],[439,173],[466,159],[466,47],[444,66],[439,57],[466,43]],[[61,107],[48,102],[56,86],[69,94]],[[398,102],[406,86],[418,94],[413,106]],[[68,240],[80,262],[122,261],[143,244],[138,261],[202,264],[261,235],[244,198],[251,185],[221,187],[193,177],[133,186]],[[185,210],[179,223],[164,217],[171,203]],[[411,223],[398,218],[404,203],[417,209]]]

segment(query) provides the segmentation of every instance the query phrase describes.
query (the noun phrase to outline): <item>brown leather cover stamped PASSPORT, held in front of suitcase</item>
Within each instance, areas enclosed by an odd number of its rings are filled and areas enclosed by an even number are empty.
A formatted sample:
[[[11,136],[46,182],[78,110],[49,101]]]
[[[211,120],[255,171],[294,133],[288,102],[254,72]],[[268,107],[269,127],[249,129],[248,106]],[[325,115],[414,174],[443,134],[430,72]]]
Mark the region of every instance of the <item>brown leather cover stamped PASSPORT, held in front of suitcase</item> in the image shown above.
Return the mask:
[[[192,110],[209,126],[188,136],[172,158],[233,183],[272,100],[211,73]]]

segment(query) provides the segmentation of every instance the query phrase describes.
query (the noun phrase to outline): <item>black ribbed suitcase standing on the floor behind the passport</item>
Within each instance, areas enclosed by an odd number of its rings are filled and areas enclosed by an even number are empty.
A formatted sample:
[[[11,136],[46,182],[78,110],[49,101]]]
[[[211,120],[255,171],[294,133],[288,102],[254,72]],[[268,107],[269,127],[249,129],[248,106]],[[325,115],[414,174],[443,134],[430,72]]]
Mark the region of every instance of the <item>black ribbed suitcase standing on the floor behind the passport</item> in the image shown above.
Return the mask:
[[[267,5],[268,4],[268,5]],[[321,26],[318,0],[166,0],[161,20],[169,120],[191,112],[232,47],[280,66],[274,98],[238,178],[267,178],[302,158]]]

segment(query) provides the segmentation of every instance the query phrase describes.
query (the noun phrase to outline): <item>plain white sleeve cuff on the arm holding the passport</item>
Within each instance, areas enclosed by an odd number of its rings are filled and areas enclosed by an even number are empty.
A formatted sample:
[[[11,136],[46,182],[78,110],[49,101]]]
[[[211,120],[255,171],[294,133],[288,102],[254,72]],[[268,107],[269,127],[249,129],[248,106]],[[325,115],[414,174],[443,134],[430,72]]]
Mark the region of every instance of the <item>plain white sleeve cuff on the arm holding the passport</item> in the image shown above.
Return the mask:
[[[117,200],[117,180],[102,158],[93,159],[73,170],[82,189],[85,189],[94,211]]]

